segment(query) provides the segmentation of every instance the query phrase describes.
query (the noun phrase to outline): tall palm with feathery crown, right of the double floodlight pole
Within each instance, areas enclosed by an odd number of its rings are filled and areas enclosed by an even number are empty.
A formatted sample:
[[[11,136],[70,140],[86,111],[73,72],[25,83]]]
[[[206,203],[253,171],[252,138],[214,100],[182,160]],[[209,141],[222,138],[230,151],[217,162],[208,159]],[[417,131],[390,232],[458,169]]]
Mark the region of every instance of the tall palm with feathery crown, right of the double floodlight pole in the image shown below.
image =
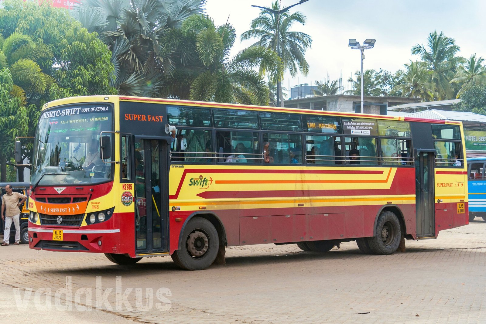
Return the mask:
[[[427,46],[416,44],[412,47],[412,54],[420,55],[422,62],[427,64],[431,74],[431,82],[435,84],[435,100],[447,100],[455,98],[455,89],[450,80],[455,75],[455,69],[463,62],[462,57],[455,56],[459,52],[459,46],[454,38],[446,37],[442,32],[430,33],[427,38]]]

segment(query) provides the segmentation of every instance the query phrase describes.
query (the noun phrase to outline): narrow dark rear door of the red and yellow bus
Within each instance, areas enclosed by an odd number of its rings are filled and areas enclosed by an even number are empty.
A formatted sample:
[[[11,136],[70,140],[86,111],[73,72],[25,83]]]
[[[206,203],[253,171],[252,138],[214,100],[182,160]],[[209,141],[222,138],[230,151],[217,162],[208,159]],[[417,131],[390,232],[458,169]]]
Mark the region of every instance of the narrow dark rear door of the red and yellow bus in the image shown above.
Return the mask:
[[[417,238],[435,236],[434,152],[418,152],[415,160]]]

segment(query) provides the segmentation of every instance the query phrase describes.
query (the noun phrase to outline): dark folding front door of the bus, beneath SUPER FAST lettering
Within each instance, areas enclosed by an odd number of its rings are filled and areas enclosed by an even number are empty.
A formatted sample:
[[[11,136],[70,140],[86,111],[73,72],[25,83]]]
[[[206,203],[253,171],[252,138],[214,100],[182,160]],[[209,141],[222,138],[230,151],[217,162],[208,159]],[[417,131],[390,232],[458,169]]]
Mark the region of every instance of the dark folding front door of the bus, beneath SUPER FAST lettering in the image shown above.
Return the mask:
[[[135,144],[138,255],[169,251],[167,145],[157,139],[139,139]]]

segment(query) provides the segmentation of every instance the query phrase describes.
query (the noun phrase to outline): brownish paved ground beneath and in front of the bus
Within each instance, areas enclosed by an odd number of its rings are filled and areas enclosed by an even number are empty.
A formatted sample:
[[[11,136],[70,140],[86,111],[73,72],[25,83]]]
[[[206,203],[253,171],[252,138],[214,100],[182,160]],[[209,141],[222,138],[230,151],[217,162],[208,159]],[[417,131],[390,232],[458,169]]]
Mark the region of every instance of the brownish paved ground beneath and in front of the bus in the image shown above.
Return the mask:
[[[254,245],[227,248],[226,266],[198,272],[178,270],[170,257],[117,266],[97,254],[0,247],[0,318],[36,324],[486,323],[486,222],[476,220],[439,239],[406,241],[406,252],[392,256],[363,255],[354,242],[326,254]]]

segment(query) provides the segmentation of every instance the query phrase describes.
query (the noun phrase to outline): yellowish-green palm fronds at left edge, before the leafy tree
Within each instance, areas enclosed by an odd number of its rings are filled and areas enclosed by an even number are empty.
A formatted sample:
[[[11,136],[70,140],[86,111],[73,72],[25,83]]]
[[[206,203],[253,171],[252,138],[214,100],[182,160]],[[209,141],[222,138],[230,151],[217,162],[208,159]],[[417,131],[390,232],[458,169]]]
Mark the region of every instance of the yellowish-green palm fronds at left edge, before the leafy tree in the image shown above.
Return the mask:
[[[7,38],[0,35],[0,69],[7,68],[12,74],[11,95],[22,105],[40,98],[55,82],[44,73],[37,60],[51,59],[52,51],[44,43],[35,43],[29,35],[18,32]]]

